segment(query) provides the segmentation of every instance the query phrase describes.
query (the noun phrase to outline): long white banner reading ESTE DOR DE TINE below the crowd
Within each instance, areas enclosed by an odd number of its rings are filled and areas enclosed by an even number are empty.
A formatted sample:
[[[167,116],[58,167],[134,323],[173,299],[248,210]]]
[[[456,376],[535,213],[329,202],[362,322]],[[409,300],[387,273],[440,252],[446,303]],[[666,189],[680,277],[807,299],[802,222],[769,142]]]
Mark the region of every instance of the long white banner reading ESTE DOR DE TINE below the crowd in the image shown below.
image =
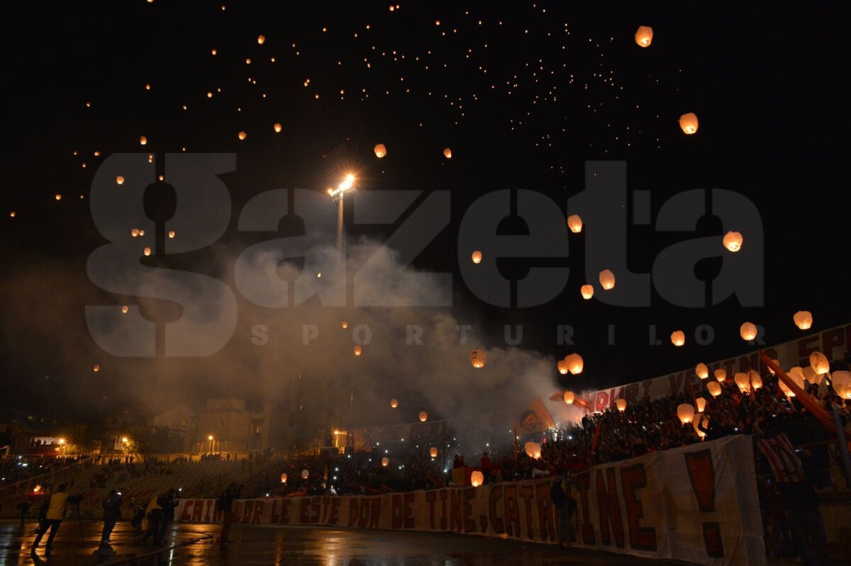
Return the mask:
[[[577,546],[699,564],[764,564],[751,438],[592,467],[572,487]],[[373,496],[240,500],[240,524],[452,531],[555,543],[552,479]],[[178,520],[220,522],[214,499],[184,499]]]

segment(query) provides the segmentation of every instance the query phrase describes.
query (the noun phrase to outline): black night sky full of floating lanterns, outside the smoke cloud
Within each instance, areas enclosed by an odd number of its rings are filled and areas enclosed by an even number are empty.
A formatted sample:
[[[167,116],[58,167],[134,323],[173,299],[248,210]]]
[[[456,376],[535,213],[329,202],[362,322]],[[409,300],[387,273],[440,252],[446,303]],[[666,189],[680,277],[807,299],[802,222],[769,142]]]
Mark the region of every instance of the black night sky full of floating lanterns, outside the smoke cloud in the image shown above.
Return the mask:
[[[341,161],[357,168],[358,190],[450,190],[452,221],[414,267],[453,272],[454,316],[475,321],[492,343],[502,340],[503,325],[522,324],[519,348],[560,359],[570,349],[557,346],[556,325],[573,325],[574,349],[585,357],[577,388],[749,350],[738,331],[745,320],[766,327],[769,345],[801,334],[792,324],[800,309],[814,314],[814,331],[848,322],[847,7],[390,8],[173,0],[7,8],[0,405],[100,416],[134,404],[136,397],[123,393],[125,371],[132,366],[138,379],[144,365],[100,351],[84,317],[86,305],[122,304],[86,274],[89,254],[106,242],[89,212],[89,187],[100,163],[121,152],[154,153],[158,161],[184,148],[235,152],[237,171],[223,176],[233,221],[220,246],[237,252],[256,241],[236,229],[252,196],[284,187],[324,190]],[[633,38],[638,25],[654,29],[648,48]],[[700,118],[694,135],[677,124],[686,112]],[[388,150],[381,160],[372,151],[379,143]],[[447,147],[451,160],[443,156]],[[654,215],[671,195],[690,189],[734,190],[755,202],[765,240],[765,306],[742,308],[735,298],[707,308],[678,308],[658,296],[650,308],[583,301],[580,286],[597,280],[585,274],[584,234],[571,235],[569,258],[500,262],[515,279],[534,265],[569,266],[556,300],[495,308],[473,296],[459,269],[469,256],[457,252],[460,218],[471,203],[493,190],[534,190],[562,206],[566,218],[565,203],[583,190],[585,161],[593,160],[626,161],[628,190],[650,190]],[[357,206],[357,193],[353,198]],[[399,225],[356,226],[351,207],[346,212],[351,239],[382,241]],[[523,223],[504,229],[523,233]],[[701,235],[717,235],[718,258],[728,253],[717,219],[703,218],[699,229],[657,234],[631,226],[631,271],[650,271],[665,246]],[[747,229],[740,227],[743,252]],[[216,263],[221,257],[191,252],[157,265],[215,275],[232,287],[228,265]],[[701,263],[699,275],[711,279],[720,261]],[[241,317],[257,316],[238,293],[237,302]],[[667,340],[680,329],[692,337],[700,324],[716,331],[709,346],[674,348]],[[606,345],[608,325],[616,325],[615,346]],[[659,327],[660,347],[648,347],[648,325]],[[230,348],[197,364],[218,364]],[[151,396],[168,393],[159,380],[169,363],[146,377]],[[553,363],[551,379],[555,389],[576,378],[558,376]],[[242,389],[198,381],[181,400],[194,403],[203,393],[258,400],[250,368],[240,381]]]

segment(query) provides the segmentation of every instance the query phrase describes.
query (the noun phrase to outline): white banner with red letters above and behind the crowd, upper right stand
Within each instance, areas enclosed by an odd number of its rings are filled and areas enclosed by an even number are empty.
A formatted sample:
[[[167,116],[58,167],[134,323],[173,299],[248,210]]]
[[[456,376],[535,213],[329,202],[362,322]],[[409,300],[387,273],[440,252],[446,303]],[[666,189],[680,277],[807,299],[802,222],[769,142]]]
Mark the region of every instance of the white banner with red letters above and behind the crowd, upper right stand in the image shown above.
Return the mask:
[[[842,325],[792,342],[784,342],[773,348],[763,349],[769,358],[779,359],[780,365],[784,368],[794,365],[806,367],[809,365],[809,354],[813,352],[821,352],[827,356],[827,359],[843,359],[848,354],[849,343],[851,343],[851,325]],[[728,378],[739,371],[747,372],[751,368],[758,368],[760,375],[763,376],[768,372],[759,358],[757,350],[735,358],[722,359],[712,363],[707,362],[706,365],[709,366],[709,379],[699,379],[694,374],[694,367],[692,367],[688,370],[654,377],[643,382],[582,393],[580,397],[585,401],[585,406],[589,410],[604,410],[607,407],[614,407],[614,402],[617,399],[626,399],[631,404],[640,399],[662,399],[671,394],[688,393],[688,382],[691,382],[694,393],[700,394],[706,383],[712,381],[712,372],[718,368],[726,370]],[[561,408],[561,405],[559,407]]]

